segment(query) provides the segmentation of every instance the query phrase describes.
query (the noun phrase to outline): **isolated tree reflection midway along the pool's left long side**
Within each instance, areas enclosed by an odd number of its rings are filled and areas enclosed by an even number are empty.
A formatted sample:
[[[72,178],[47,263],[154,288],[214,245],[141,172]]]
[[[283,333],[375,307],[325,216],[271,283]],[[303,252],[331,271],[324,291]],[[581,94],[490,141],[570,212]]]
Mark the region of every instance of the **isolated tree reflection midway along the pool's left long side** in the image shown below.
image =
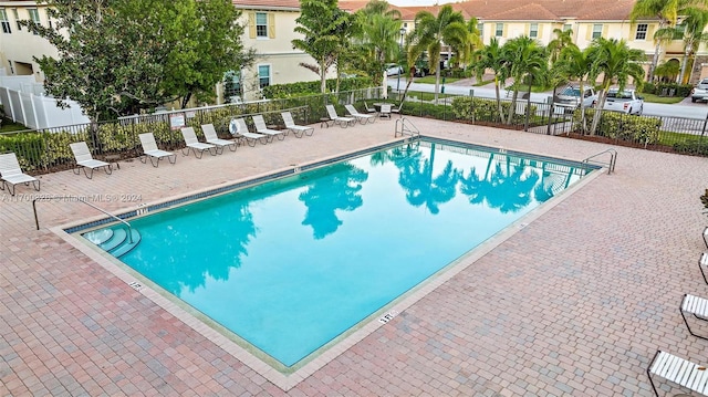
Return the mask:
[[[326,178],[315,180],[306,191],[300,194],[300,200],[308,207],[302,224],[312,226],[315,239],[333,233],[342,224],[336,210],[352,211],[363,203],[362,182],[368,173],[352,164],[343,163],[330,167]]]

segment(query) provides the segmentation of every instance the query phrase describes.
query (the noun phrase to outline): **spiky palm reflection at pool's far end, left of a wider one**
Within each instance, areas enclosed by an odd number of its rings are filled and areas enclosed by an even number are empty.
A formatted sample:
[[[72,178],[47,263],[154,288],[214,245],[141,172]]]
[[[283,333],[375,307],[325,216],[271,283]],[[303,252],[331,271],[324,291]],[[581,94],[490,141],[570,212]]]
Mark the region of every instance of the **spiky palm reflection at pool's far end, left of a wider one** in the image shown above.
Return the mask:
[[[452,167],[452,161],[448,160],[442,171],[434,178],[434,164],[435,144],[431,144],[429,159],[421,163],[417,156],[407,161],[402,160],[396,166],[400,169],[398,184],[406,190],[408,202],[414,207],[425,205],[430,213],[438,213],[438,206],[455,197],[460,173]]]

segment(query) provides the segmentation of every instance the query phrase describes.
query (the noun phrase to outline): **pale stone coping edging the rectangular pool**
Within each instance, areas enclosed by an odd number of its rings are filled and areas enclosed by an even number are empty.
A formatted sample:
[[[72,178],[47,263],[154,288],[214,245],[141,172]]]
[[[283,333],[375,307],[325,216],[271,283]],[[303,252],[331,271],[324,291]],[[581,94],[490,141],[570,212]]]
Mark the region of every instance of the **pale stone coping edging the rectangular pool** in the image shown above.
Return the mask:
[[[512,150],[506,150],[503,148],[493,148],[485,145],[476,145],[476,144],[458,142],[454,139],[442,139],[442,138],[437,138],[431,136],[423,136],[423,137],[426,139],[431,139],[440,143],[456,144],[456,145],[461,145],[466,147],[486,148],[486,149],[496,150],[500,154],[506,154],[506,155],[519,154],[524,156],[533,156],[541,159],[564,160],[564,161],[572,161],[573,164],[580,164],[580,161],[577,160],[564,159],[562,157],[550,157],[550,156],[543,156],[543,155],[535,155],[531,153],[512,152]],[[169,197],[164,200],[156,201],[153,206],[156,207],[155,210],[168,209],[168,208],[171,208],[173,206],[176,206],[186,201],[196,201],[207,197],[217,196],[222,192],[238,190],[240,188],[248,187],[253,184],[258,184],[262,181],[263,178],[278,179],[280,177],[295,174],[295,169],[308,170],[308,169],[316,168],[317,166],[324,166],[324,165],[335,163],[345,158],[357,157],[358,155],[363,155],[368,152],[382,149],[385,147],[391,147],[391,146],[410,142],[410,140],[412,140],[410,138],[392,139],[383,144],[372,145],[372,146],[360,148],[356,150],[345,152],[336,156],[323,157],[321,159],[303,163],[301,165],[290,165],[289,167],[279,168],[268,173],[261,173],[257,176],[240,178],[236,181],[220,184],[220,185],[217,185],[216,187],[212,186],[209,188],[191,191],[186,195],[177,195],[174,197]],[[139,273],[137,273],[136,271],[133,271],[127,265],[123,264],[122,262],[119,262],[119,260],[115,259],[107,252],[100,250],[95,245],[92,247],[90,244],[83,243],[82,241],[80,241],[79,238],[72,234],[80,230],[88,230],[91,228],[94,228],[101,224],[114,222],[115,221],[114,219],[106,218],[105,216],[97,216],[97,217],[83,219],[81,221],[73,221],[62,226],[52,227],[49,230],[58,234],[60,238],[62,238],[64,241],[70,243],[72,247],[80,250],[82,253],[86,254],[88,258],[91,258],[96,263],[102,265],[108,272],[111,272],[112,274],[114,274],[115,276],[124,281],[126,284],[133,288],[136,292],[148,297],[158,306],[165,309],[167,312],[175,315],[183,323],[190,326],[192,330],[201,334],[204,337],[206,337],[207,339],[211,341],[212,343],[221,347],[225,352],[231,354],[233,357],[242,362],[244,365],[247,365],[248,367],[250,367],[251,369],[253,369],[254,372],[257,372],[258,374],[267,378],[269,382],[272,382],[274,385],[277,385],[284,391],[288,391],[292,389],[294,386],[296,386],[299,383],[304,380],[306,377],[309,377],[310,375],[314,374],[316,370],[322,368],[324,365],[326,365],[327,363],[336,358],[339,355],[341,355],[352,346],[356,345],[358,342],[363,341],[366,336],[374,333],[381,326],[386,325],[397,314],[404,312],[405,310],[410,307],[413,304],[418,302],[420,299],[425,297],[427,294],[435,291],[438,286],[440,286],[445,282],[454,278],[456,274],[458,274],[462,270],[467,269],[469,265],[471,265],[478,259],[486,255],[488,252],[493,250],[503,241],[508,240],[513,234],[521,231],[523,228],[525,228],[525,226],[531,223],[533,220],[538,219],[543,213],[548,212],[549,210],[551,210],[552,208],[561,203],[563,200],[565,200],[572,194],[581,189],[583,186],[590,184],[600,175],[604,174],[602,171],[604,167],[598,167],[593,165],[589,165],[587,167],[594,168],[596,171],[585,175],[573,186],[569,187],[568,189],[563,190],[560,195],[555,196],[553,200],[550,200],[550,202],[546,201],[541,203],[539,207],[532,209],[531,211],[529,211],[527,215],[524,215],[517,221],[510,223],[503,230],[497,232],[496,234],[488,238],[486,241],[483,241],[479,245],[475,247],[470,251],[460,255],[458,259],[445,265],[442,269],[438,270],[437,272],[428,276],[418,285],[414,286],[413,289],[408,290],[404,294],[399,295],[388,304],[384,305],[378,311],[372,313],[369,316],[367,316],[366,318],[364,318],[363,321],[361,321],[360,323],[357,323],[356,325],[347,330],[342,335],[335,337],[324,346],[320,347],[317,351],[313,352],[308,357],[303,358],[304,362],[302,365],[295,364],[293,366],[295,369],[292,373],[288,373],[288,374],[284,374],[283,372],[279,370],[278,368],[269,364],[267,361],[263,359],[263,357],[259,357],[253,352],[239,345],[237,342],[233,341],[233,338],[225,335],[223,333],[217,331],[214,326],[210,326],[207,323],[205,323],[204,318],[201,318],[199,315],[195,315],[196,310],[194,309],[187,310],[186,307],[184,307],[184,306],[188,306],[188,304],[181,301],[180,301],[181,304],[174,302],[174,300],[178,300],[178,299],[176,297],[169,299],[165,296],[166,294],[169,294],[169,293],[164,291],[162,288],[157,286],[152,282],[146,282],[146,279],[144,276],[139,275]],[[292,170],[292,173],[288,173],[289,170]],[[228,189],[229,187],[230,189]],[[144,208],[144,207],[138,207],[133,210],[128,209],[127,211],[124,211],[121,215],[118,215],[118,217],[127,216],[128,218],[131,218],[131,217],[139,216],[142,215],[142,213],[138,213],[140,208]],[[76,229],[81,224],[83,224],[84,227]],[[118,262],[119,264],[116,262]],[[188,306],[188,307],[191,307],[191,306]]]

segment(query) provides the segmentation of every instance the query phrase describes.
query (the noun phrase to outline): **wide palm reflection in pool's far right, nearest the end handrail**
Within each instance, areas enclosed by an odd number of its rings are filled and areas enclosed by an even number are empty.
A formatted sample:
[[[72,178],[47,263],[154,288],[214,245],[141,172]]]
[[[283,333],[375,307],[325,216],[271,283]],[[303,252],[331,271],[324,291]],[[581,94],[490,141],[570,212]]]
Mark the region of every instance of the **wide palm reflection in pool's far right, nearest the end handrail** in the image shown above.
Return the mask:
[[[497,163],[494,170],[489,175],[492,163],[490,156],[483,177],[479,177],[472,167],[468,177],[461,178],[460,190],[469,197],[471,203],[487,201],[489,207],[507,213],[517,212],[531,202],[531,191],[537,187],[539,175],[527,175],[523,160],[520,165],[512,166],[509,156],[504,157],[506,171],[502,170],[501,164]]]

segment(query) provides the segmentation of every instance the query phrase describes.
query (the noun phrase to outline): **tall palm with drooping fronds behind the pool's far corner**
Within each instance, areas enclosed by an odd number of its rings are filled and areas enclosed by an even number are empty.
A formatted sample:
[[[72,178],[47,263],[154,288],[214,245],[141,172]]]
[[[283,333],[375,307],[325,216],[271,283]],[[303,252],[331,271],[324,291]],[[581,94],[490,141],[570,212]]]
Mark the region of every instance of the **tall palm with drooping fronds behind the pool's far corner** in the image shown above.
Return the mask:
[[[408,48],[408,64],[428,52],[429,67],[435,71],[435,103],[438,102],[440,90],[440,49],[442,43],[462,42],[469,32],[465,25],[465,18],[452,10],[449,4],[442,6],[437,18],[429,11],[419,11],[415,18],[416,29],[410,35]],[[410,62],[413,60],[413,62]]]

